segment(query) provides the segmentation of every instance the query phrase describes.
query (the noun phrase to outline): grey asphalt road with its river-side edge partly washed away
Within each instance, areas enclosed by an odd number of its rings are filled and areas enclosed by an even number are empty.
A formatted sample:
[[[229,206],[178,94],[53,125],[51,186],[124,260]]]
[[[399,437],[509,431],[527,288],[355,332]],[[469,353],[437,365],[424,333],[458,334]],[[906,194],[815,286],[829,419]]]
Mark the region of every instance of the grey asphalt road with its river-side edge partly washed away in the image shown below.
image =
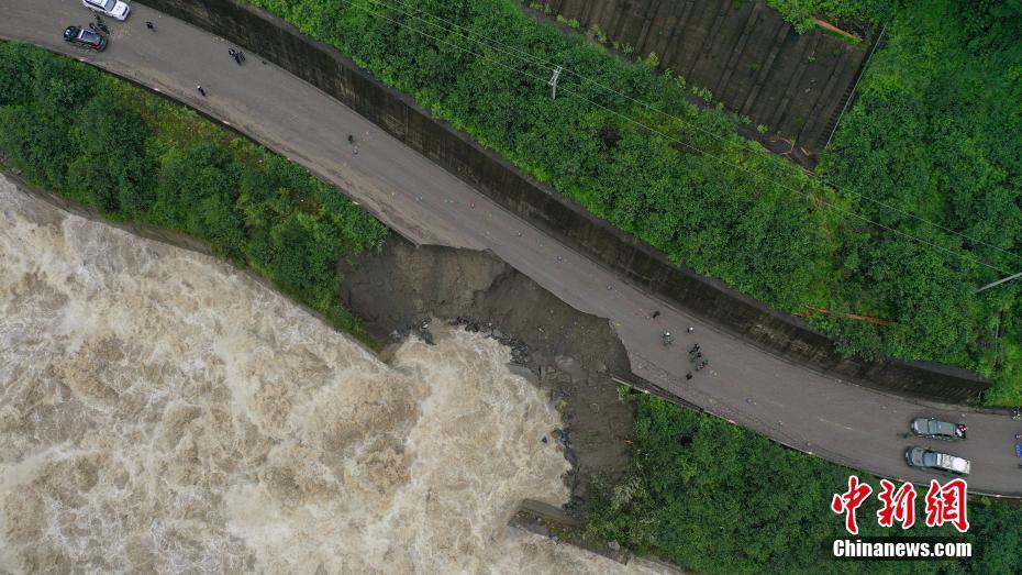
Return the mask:
[[[826,460],[917,483],[932,475],[909,468],[904,450],[945,449],[973,461],[971,490],[1022,496],[1013,449],[1022,421],[842,383],[716,331],[563,246],[256,54],[237,66],[223,40],[144,5],[133,4],[125,23],[110,22],[110,47],[96,54],[62,40],[67,25],[91,18],[76,0],[4,4],[0,36],[73,55],[221,119],[329,179],[413,242],[492,250],[577,309],[608,318],[637,375],[712,413]],[[146,30],[146,20],[156,32]],[[355,134],[358,154],[347,134]],[[653,310],[662,312],[656,320],[649,319]],[[688,325],[696,328],[692,334]],[[665,329],[678,334],[673,347],[660,344]],[[685,350],[693,342],[712,367],[685,382]],[[969,439],[904,439],[908,422],[921,414],[965,422]],[[829,497],[821,498],[821,506],[827,504]]]

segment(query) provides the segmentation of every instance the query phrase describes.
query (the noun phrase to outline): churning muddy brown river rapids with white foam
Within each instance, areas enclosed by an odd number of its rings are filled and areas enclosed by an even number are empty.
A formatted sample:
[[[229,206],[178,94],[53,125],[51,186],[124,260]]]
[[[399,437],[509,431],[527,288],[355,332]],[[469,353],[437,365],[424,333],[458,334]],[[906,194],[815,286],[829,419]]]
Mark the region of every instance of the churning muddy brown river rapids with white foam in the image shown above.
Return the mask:
[[[390,365],[213,258],[0,179],[0,572],[607,573],[543,395],[463,331]]]

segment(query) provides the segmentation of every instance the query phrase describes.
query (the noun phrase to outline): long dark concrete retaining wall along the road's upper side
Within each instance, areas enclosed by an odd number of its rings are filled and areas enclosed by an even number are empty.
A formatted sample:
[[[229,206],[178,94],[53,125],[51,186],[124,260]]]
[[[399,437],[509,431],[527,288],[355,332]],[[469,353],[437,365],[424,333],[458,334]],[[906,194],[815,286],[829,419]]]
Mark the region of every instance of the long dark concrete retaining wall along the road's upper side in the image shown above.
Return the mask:
[[[663,254],[535,184],[465,134],[433,120],[410,98],[382,86],[337,51],[260,10],[231,0],[143,3],[258,52],[551,235],[760,349],[837,378],[901,395],[960,402],[989,387],[963,369],[897,361],[868,364],[841,357],[832,341],[801,320],[671,264]]]

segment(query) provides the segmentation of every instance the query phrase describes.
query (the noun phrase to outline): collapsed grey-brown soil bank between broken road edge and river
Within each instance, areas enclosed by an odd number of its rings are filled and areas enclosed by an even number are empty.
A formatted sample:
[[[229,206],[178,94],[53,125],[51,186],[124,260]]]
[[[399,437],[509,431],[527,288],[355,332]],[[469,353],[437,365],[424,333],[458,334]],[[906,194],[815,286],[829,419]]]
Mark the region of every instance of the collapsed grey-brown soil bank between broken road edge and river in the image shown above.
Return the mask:
[[[512,364],[548,390],[565,422],[547,441],[560,442],[573,464],[565,477],[569,513],[581,515],[596,476],[625,471],[633,413],[611,377],[627,377],[631,368],[606,319],[575,310],[486,252],[416,248],[391,236],[341,272],[345,303],[380,341],[409,333],[430,341],[429,325],[438,320],[511,346]]]

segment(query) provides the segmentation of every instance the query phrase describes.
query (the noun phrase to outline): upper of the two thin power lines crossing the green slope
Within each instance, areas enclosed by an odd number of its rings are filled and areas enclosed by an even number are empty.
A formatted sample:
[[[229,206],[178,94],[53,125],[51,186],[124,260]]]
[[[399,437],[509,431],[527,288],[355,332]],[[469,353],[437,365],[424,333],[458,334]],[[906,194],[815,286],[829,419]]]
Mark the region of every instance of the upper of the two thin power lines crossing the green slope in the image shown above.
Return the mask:
[[[436,23],[434,23],[434,22],[430,22],[430,21],[427,21],[427,20],[425,20],[425,19],[423,19],[423,18],[420,18],[420,16],[418,16],[418,15],[415,15],[415,14],[410,14],[409,12],[406,12],[406,11],[402,11],[402,10],[398,10],[398,9],[393,8],[392,5],[387,4],[387,3],[385,3],[385,2],[380,2],[380,1],[378,1],[378,0],[367,0],[367,1],[368,1],[368,2],[371,2],[371,3],[374,3],[374,4],[377,4],[377,5],[381,5],[381,7],[384,7],[384,8],[388,8],[388,9],[395,10],[395,11],[401,13],[401,14],[404,14],[404,15],[408,15],[408,16],[411,16],[411,18],[414,18],[415,20],[419,20],[420,22],[423,22],[423,23],[425,23],[425,24],[427,24],[427,25],[431,25],[431,26],[434,26],[434,27],[438,27],[438,29],[441,29],[441,30],[443,30],[443,31],[445,31],[445,32],[451,32],[451,29],[441,26],[440,24],[436,24]],[[463,34],[463,33],[459,33],[459,32],[455,32],[455,34],[457,34],[458,36],[462,36],[462,37],[464,37],[464,38],[466,38],[466,40],[468,40],[468,41],[470,41],[470,42],[474,42],[474,43],[476,43],[476,44],[479,44],[480,46],[490,47],[490,48],[495,47],[495,45],[496,45],[496,46],[500,46],[500,47],[502,47],[502,48],[506,48],[507,51],[510,51],[510,52],[512,52],[512,53],[519,54],[518,56],[515,56],[514,54],[509,54],[509,55],[514,56],[514,57],[518,57],[519,59],[524,60],[524,62],[530,63],[530,64],[540,64],[540,65],[543,65],[543,66],[545,66],[545,67],[551,67],[551,68],[553,68],[553,67],[555,67],[555,66],[558,66],[558,65],[554,64],[554,63],[551,62],[551,60],[543,59],[543,58],[540,57],[540,56],[534,56],[533,54],[531,54],[531,53],[529,53],[529,52],[525,52],[525,51],[523,51],[523,49],[521,49],[521,48],[518,48],[518,47],[515,47],[515,46],[513,46],[513,45],[504,44],[504,43],[501,43],[500,41],[490,38],[490,37],[486,36],[485,34],[480,34],[480,33],[478,33],[478,32],[475,32],[475,31],[473,31],[473,30],[470,30],[470,29],[467,29],[467,27],[465,27],[465,26],[459,25],[459,24],[456,23],[456,22],[452,22],[451,20],[447,20],[447,19],[445,19],[445,18],[438,16],[438,15],[436,15],[436,14],[434,14],[434,13],[432,13],[432,12],[429,12],[429,11],[426,11],[426,10],[423,10],[423,9],[421,9],[421,8],[419,8],[419,7],[410,5],[410,4],[404,3],[404,2],[402,2],[402,1],[400,1],[400,0],[391,0],[391,1],[395,2],[395,3],[397,3],[397,4],[399,4],[399,5],[401,5],[401,7],[403,7],[403,8],[407,8],[407,9],[410,9],[410,10],[414,10],[414,11],[418,12],[418,13],[426,14],[426,15],[429,15],[429,16],[431,16],[431,18],[434,18],[434,19],[436,19],[436,20],[440,20],[441,22],[444,22],[444,23],[446,23],[446,24],[449,24],[449,25],[453,26],[454,29],[457,29],[457,30],[467,32],[467,35],[466,35],[466,34]],[[882,33],[882,32],[881,32],[881,33]],[[485,44],[485,43],[480,42],[479,40],[476,40],[476,38],[474,38],[474,37],[471,37],[471,36],[478,36],[478,37],[485,40],[486,42],[488,42],[488,43],[490,43],[490,44]],[[498,52],[499,52],[499,51],[498,51]],[[870,54],[870,55],[871,55],[871,54]],[[558,66],[558,67],[559,67],[559,66]],[[702,126],[700,126],[700,125],[698,125],[698,124],[693,124],[693,123],[687,122],[687,121],[682,120],[681,118],[678,118],[678,117],[676,117],[676,115],[674,115],[674,114],[670,114],[670,113],[668,113],[668,112],[666,112],[666,111],[664,111],[664,110],[662,110],[662,109],[659,109],[659,108],[657,108],[657,107],[655,107],[655,106],[653,106],[653,104],[651,104],[651,103],[648,103],[648,102],[638,100],[637,98],[634,98],[634,97],[629,96],[629,95],[626,95],[626,93],[624,93],[624,92],[621,92],[621,91],[619,91],[619,90],[615,90],[615,89],[613,89],[613,88],[611,88],[611,87],[609,87],[609,86],[606,86],[606,85],[603,85],[603,84],[601,84],[601,82],[599,82],[599,81],[597,81],[597,80],[595,80],[595,79],[592,79],[592,78],[590,78],[590,77],[587,77],[587,76],[585,76],[585,75],[582,75],[582,74],[579,74],[579,73],[577,73],[577,71],[575,71],[575,70],[573,70],[573,69],[570,69],[570,68],[565,69],[564,71],[567,73],[567,74],[577,76],[578,78],[580,78],[580,79],[584,80],[584,81],[589,81],[591,85],[593,85],[593,86],[596,86],[597,88],[600,88],[600,89],[602,89],[602,90],[604,90],[604,91],[607,91],[607,92],[610,92],[610,93],[612,93],[612,95],[614,95],[614,96],[619,96],[619,97],[621,97],[621,98],[624,98],[624,99],[626,99],[626,100],[629,100],[629,101],[631,101],[631,102],[633,102],[633,103],[637,103],[637,104],[642,106],[643,108],[645,108],[645,109],[647,109],[647,110],[657,112],[657,113],[659,113],[659,114],[662,114],[662,115],[664,115],[664,117],[666,117],[666,118],[668,118],[668,119],[671,119],[671,120],[675,120],[675,121],[677,121],[677,122],[680,122],[681,124],[684,124],[684,125],[687,126],[687,128],[691,128],[691,129],[698,130],[698,131],[700,131],[700,132],[703,132],[704,134],[707,134],[707,135],[709,135],[709,136],[711,136],[711,137],[714,137],[714,139],[721,141],[721,142],[723,142],[723,143],[725,143],[725,144],[727,144],[727,145],[730,145],[730,146],[736,147],[737,150],[741,150],[743,153],[752,153],[751,150],[748,150],[748,148],[742,146],[741,143],[738,143],[738,142],[735,142],[735,141],[730,140],[730,139],[724,137],[724,136],[721,136],[720,134],[716,134],[716,133],[714,133],[714,132],[712,132],[712,131],[710,131],[710,130],[707,130],[707,129],[704,129],[704,128],[702,128]],[[856,82],[856,84],[857,84],[857,82]],[[998,246],[996,246],[996,245],[993,245],[993,244],[990,244],[990,243],[988,243],[988,242],[984,242],[984,241],[981,241],[981,240],[977,240],[977,239],[975,239],[975,237],[973,237],[973,236],[970,236],[970,235],[967,235],[967,234],[965,234],[965,233],[963,233],[963,232],[959,232],[959,231],[957,231],[957,230],[953,230],[953,229],[951,229],[951,228],[947,228],[947,226],[945,226],[945,225],[943,225],[943,224],[941,224],[941,223],[938,223],[938,222],[935,222],[935,221],[933,221],[933,220],[930,220],[930,219],[927,219],[927,218],[923,218],[923,217],[921,217],[921,215],[918,215],[918,214],[915,214],[915,213],[912,213],[912,212],[910,212],[910,211],[908,211],[908,210],[906,210],[906,209],[903,209],[903,208],[900,208],[900,207],[898,207],[898,206],[892,206],[892,204],[887,203],[887,202],[885,202],[885,201],[882,201],[882,200],[878,200],[878,199],[875,199],[875,198],[870,198],[870,197],[865,196],[865,195],[863,195],[863,193],[860,193],[860,192],[857,192],[857,191],[845,191],[845,190],[842,190],[842,189],[838,188],[836,185],[834,185],[833,183],[831,183],[831,181],[829,181],[829,180],[826,180],[826,179],[824,179],[824,178],[822,178],[822,177],[815,177],[815,179],[817,179],[817,181],[823,184],[825,187],[829,187],[829,188],[831,188],[833,191],[840,192],[840,193],[842,193],[842,195],[844,195],[844,196],[846,196],[846,197],[848,197],[848,196],[857,197],[857,198],[859,198],[859,199],[863,199],[863,200],[866,200],[866,201],[868,201],[868,202],[871,202],[871,203],[874,203],[874,204],[876,204],[876,206],[880,206],[880,207],[882,207],[882,208],[886,208],[886,209],[888,209],[888,210],[890,210],[890,211],[899,212],[899,213],[901,213],[901,214],[903,214],[903,215],[906,215],[906,217],[908,217],[908,218],[911,218],[911,219],[913,219],[913,220],[915,220],[915,221],[918,221],[918,222],[932,225],[932,226],[934,226],[934,228],[936,228],[936,229],[938,229],[938,230],[942,230],[942,231],[944,231],[944,232],[947,232],[947,233],[957,235],[957,236],[959,236],[959,237],[962,237],[962,239],[964,239],[964,240],[968,240],[968,241],[971,242],[973,244],[976,244],[976,245],[984,245],[984,246],[990,247],[990,248],[992,248],[992,250],[996,250],[996,251],[998,251],[998,252],[1000,252],[1000,253],[1002,253],[1002,254],[1004,254],[1004,255],[1011,256],[1011,257],[1014,258],[1014,259],[1022,261],[1022,256],[1020,256],[1019,254],[1015,254],[1014,252],[1010,252],[1010,251],[1008,251],[1008,250],[1004,250],[1004,248],[1002,248],[1002,247],[998,247]]]

